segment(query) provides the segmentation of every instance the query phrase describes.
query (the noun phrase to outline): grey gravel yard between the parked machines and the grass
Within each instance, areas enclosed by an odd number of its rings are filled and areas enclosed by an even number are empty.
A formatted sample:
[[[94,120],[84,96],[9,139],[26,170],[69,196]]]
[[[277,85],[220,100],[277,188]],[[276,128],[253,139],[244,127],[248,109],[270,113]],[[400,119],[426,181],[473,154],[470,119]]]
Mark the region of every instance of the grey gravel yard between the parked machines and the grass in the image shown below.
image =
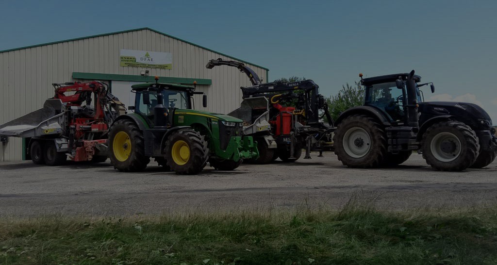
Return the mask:
[[[133,215],[168,211],[339,207],[353,195],[385,209],[472,206],[497,202],[497,161],[450,173],[427,167],[420,155],[391,169],[349,169],[332,153],[293,164],[242,165],[196,176],[119,173],[110,164],[48,167],[0,163],[0,216]]]

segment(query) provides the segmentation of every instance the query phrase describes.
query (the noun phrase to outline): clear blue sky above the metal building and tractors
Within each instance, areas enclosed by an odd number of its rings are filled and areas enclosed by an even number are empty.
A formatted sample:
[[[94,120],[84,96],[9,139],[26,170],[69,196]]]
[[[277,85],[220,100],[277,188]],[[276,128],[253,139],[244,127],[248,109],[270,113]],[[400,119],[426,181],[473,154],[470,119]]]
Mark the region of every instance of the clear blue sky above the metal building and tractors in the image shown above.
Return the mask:
[[[150,27],[270,69],[343,84],[416,70],[426,99],[497,121],[497,1],[0,1],[0,50]],[[428,92],[428,91],[426,91]],[[497,122],[494,122],[497,123]]]

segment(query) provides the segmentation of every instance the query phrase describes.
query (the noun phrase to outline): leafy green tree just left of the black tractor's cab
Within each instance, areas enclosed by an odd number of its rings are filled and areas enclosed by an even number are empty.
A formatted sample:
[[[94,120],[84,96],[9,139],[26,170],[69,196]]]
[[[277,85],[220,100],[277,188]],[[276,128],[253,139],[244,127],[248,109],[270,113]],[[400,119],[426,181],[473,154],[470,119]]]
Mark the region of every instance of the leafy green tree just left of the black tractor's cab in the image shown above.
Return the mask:
[[[350,86],[347,83],[345,86],[342,86],[342,89],[338,91],[338,94],[331,95],[327,98],[328,108],[333,120],[336,120],[338,115],[343,111],[354,106],[362,105],[364,100],[364,88],[361,87],[360,83],[354,83],[354,86]]]

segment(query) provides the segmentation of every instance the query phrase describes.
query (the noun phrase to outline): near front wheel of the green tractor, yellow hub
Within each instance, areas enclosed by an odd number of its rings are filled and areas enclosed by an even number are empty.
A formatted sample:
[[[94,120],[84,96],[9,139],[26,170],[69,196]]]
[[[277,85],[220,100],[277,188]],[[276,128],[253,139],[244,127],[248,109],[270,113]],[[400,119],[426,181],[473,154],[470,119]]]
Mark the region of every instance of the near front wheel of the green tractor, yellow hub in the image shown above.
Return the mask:
[[[167,166],[179,175],[198,174],[209,159],[204,136],[192,129],[172,132],[167,137],[164,153]]]

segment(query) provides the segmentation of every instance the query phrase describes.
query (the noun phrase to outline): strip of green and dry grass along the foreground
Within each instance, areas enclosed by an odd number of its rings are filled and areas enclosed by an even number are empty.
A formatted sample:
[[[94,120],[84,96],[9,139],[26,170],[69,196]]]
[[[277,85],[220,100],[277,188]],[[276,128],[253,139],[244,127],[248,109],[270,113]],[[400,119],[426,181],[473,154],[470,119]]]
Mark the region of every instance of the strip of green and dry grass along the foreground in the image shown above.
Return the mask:
[[[0,220],[0,264],[497,264],[497,207]]]

